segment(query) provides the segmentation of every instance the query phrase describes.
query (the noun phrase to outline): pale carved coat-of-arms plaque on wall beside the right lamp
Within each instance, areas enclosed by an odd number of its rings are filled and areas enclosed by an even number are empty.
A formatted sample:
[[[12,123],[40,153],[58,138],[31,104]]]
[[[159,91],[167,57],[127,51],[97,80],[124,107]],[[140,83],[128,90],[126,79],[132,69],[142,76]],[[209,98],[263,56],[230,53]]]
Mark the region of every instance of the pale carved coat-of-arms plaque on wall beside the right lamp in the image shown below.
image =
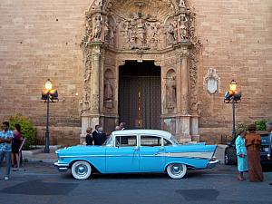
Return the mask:
[[[209,68],[208,73],[203,78],[203,86],[209,94],[214,94],[219,91],[220,78],[216,69]]]

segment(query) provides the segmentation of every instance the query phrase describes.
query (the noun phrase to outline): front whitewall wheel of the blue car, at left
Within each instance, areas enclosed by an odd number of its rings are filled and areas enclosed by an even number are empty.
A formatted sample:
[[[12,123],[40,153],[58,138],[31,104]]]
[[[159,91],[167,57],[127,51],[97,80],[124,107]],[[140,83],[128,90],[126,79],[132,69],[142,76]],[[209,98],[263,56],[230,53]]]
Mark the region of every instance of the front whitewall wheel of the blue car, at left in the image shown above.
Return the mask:
[[[73,163],[71,172],[74,179],[87,180],[92,173],[92,167],[87,161],[78,160]]]

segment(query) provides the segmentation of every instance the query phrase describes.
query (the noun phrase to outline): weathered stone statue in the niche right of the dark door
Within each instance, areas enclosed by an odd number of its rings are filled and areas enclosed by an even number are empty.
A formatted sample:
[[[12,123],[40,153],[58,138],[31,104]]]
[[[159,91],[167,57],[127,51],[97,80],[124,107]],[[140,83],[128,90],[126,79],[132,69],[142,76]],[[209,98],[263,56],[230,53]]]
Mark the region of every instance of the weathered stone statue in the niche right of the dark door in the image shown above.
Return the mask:
[[[172,76],[167,79],[166,82],[167,90],[167,108],[175,108],[177,102],[177,92],[176,92],[176,77]]]

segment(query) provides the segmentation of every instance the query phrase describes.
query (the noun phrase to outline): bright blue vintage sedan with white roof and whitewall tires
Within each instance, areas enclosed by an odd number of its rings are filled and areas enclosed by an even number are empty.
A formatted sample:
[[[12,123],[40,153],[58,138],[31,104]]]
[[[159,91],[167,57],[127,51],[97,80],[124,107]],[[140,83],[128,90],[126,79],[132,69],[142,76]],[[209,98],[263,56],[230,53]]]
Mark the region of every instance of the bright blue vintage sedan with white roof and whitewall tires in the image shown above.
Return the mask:
[[[92,172],[167,172],[181,179],[188,169],[213,168],[216,145],[180,145],[168,131],[113,131],[102,146],[73,146],[56,151],[54,166],[71,169],[73,178],[86,180]]]

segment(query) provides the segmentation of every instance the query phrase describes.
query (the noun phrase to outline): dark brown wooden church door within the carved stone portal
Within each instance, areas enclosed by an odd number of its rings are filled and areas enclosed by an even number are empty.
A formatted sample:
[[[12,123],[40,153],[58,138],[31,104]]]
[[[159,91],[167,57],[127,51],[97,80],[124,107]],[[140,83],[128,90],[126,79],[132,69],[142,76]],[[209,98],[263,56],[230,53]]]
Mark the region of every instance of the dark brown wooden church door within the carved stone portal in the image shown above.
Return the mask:
[[[128,128],[160,129],[160,101],[160,76],[121,76],[119,115]]]

